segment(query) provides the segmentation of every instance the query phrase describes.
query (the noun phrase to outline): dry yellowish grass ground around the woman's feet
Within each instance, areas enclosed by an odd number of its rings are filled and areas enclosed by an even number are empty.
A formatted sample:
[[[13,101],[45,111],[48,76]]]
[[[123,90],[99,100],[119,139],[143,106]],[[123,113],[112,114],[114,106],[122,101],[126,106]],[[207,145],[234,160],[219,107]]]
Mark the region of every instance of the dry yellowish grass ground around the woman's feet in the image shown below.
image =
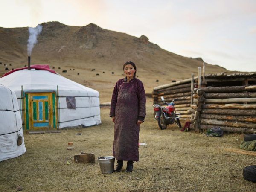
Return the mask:
[[[183,133],[175,126],[160,130],[153,120],[152,100],[140,129],[140,161],[132,173],[102,174],[99,164],[76,164],[75,154],[95,157],[112,154],[113,123],[109,109],[101,109],[102,124],[64,129],[60,134],[25,135],[27,152],[0,162],[0,191],[255,191],[256,184],[243,179],[244,166],[256,157],[224,151],[238,148],[243,135],[221,138],[195,132]],[[76,133],[82,135],[76,135]],[[67,143],[73,141],[73,151]],[[67,165],[67,161],[70,165]],[[125,169],[125,166],[124,166]]]

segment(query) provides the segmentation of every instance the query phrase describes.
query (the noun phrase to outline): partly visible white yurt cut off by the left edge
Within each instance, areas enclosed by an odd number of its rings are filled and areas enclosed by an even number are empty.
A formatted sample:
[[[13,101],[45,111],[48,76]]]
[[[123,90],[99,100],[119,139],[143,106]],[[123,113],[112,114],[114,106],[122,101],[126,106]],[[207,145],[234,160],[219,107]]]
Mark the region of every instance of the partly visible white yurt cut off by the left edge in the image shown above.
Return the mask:
[[[0,161],[26,152],[22,121],[15,93],[0,84]]]

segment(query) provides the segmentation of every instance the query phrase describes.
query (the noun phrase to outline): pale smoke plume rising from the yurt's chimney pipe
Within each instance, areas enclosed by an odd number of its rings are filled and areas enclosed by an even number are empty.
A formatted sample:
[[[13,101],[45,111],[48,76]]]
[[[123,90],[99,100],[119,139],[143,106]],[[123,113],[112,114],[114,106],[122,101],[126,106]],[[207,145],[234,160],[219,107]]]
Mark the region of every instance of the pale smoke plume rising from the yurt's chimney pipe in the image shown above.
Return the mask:
[[[32,49],[37,43],[37,36],[41,33],[43,26],[38,25],[36,27],[29,27],[29,39],[28,39],[28,56],[31,56]]]

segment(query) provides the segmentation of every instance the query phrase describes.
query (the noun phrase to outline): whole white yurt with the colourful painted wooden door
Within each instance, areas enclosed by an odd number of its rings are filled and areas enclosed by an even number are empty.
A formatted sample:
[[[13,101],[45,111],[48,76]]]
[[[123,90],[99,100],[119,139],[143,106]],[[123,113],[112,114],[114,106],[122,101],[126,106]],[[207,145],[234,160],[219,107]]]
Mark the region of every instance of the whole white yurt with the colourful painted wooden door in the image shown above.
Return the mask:
[[[25,130],[101,123],[99,92],[56,74],[48,65],[9,71],[0,84],[15,92]]]

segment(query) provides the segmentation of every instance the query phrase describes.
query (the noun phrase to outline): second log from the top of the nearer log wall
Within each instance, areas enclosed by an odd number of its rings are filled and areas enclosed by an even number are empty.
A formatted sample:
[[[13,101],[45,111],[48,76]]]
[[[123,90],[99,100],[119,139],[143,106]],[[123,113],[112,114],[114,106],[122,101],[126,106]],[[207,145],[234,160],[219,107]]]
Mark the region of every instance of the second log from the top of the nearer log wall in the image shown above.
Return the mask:
[[[206,99],[225,99],[225,98],[252,98],[256,97],[256,93],[205,93],[204,97]]]

